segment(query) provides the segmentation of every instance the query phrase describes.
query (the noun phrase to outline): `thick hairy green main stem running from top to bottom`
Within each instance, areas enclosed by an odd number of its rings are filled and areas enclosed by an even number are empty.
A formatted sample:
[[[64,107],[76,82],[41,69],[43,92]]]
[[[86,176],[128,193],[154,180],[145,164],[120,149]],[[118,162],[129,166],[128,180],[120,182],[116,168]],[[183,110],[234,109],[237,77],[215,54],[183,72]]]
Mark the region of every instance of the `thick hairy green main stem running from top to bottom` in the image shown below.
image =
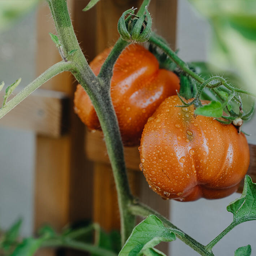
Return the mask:
[[[90,97],[104,133],[105,143],[116,182],[121,219],[121,237],[122,244],[124,244],[133,230],[135,216],[128,211],[127,207],[133,197],[130,192],[126,174],[121,134],[110,98],[110,87],[105,83],[105,79],[98,79],[89,67],[77,42],[70,21],[66,0],[49,0],[49,6],[64,55],[73,49],[78,49],[73,55],[67,56],[66,58],[74,64],[75,69],[73,70],[73,75],[77,81],[81,83]],[[104,194],[104,191],[102,191],[102,193]]]

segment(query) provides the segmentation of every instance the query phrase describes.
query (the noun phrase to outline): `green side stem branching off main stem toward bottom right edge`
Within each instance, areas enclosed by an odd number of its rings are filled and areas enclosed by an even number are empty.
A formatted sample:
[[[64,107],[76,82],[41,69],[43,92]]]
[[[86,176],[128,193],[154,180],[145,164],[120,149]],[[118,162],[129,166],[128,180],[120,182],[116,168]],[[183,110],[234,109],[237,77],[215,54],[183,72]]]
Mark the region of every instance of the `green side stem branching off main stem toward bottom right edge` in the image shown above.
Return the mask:
[[[188,246],[190,246],[192,249],[194,249],[196,252],[203,256],[213,256],[213,253],[211,250],[207,250],[205,246],[198,241],[196,241],[194,238],[190,237],[186,233],[184,233],[181,229],[173,225],[168,219],[166,219],[164,216],[162,216],[159,212],[149,208],[147,205],[144,205],[142,203],[133,203],[129,207],[131,213],[142,216],[142,217],[147,217],[150,214],[154,214],[157,216],[164,226],[166,227],[171,227],[173,229],[177,229],[181,231],[184,235],[181,236],[180,234],[176,234],[176,236],[182,240],[184,243],[186,243]],[[173,231],[175,233],[175,231]]]

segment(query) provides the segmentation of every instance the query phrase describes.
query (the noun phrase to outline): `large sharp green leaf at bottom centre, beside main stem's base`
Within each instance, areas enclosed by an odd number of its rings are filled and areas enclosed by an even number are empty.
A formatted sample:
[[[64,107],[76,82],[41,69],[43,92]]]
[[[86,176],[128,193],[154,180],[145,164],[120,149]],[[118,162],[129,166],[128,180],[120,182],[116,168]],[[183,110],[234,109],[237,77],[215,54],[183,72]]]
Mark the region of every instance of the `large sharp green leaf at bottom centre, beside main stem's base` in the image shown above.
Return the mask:
[[[164,227],[155,215],[149,215],[133,229],[119,256],[143,256],[145,251],[148,252],[148,248],[153,248],[162,241],[175,240],[176,235],[173,231],[174,229]],[[181,233],[178,230],[175,231]]]

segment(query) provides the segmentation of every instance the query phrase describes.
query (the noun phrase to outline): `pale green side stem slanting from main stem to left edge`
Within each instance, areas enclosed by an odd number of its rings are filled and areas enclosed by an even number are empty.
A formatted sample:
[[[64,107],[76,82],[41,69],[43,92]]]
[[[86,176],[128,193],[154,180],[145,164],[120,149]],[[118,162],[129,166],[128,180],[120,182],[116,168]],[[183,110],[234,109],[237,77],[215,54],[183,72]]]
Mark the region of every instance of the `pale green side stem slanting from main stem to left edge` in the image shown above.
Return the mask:
[[[14,107],[16,107],[22,100],[24,100],[33,91],[39,88],[43,83],[47,82],[49,79],[57,74],[60,74],[61,72],[71,71],[72,69],[73,65],[71,62],[61,61],[51,66],[51,68],[45,70],[43,74],[39,75],[39,77],[37,77],[33,82],[22,89],[16,96],[9,100],[4,107],[0,108],[0,118],[2,118]]]

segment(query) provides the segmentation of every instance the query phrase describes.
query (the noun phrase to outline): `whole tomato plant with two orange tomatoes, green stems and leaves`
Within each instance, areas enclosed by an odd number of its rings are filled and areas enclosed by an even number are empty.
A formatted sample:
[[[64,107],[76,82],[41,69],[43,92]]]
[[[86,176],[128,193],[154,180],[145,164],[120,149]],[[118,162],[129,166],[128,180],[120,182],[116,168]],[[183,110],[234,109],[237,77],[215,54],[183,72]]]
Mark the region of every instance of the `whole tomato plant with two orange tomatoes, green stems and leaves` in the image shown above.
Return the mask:
[[[98,1],[91,0],[84,10]],[[227,206],[227,211],[233,213],[233,221],[207,245],[190,237],[131,193],[122,141],[126,145],[138,143],[147,119],[141,139],[140,167],[157,193],[164,198],[189,201],[202,196],[220,198],[235,191],[246,173],[249,152],[244,134],[239,134],[234,125],[240,128],[254,109],[253,106],[246,114],[240,95],[256,97],[227,83],[222,76],[204,79],[181,60],[163,38],[151,32],[152,21],[146,7],[149,3],[150,0],[143,0],[136,14],[136,8],[122,14],[118,21],[121,37],[112,49],[96,57],[90,67],[75,36],[66,0],[48,0],[58,34],[50,35],[62,61],[45,70],[11,100],[9,96],[20,79],[8,86],[0,108],[1,118],[48,79],[63,71],[74,75],[81,84],[75,95],[77,113],[91,129],[101,129],[104,134],[118,196],[121,242],[114,246],[113,240],[119,241],[118,235],[106,238],[97,224],[64,229],[61,234],[46,226],[37,238],[20,242],[18,221],[1,235],[0,249],[6,255],[32,256],[40,247],[68,247],[94,255],[116,256],[117,251],[119,256],[164,255],[155,246],[179,238],[200,255],[213,256],[212,248],[224,235],[242,222],[256,220],[256,184],[248,175],[241,197]],[[161,64],[172,66],[178,77],[159,69],[156,58],[141,45],[131,44],[145,41],[163,61]],[[181,95],[177,92],[177,96],[170,96],[179,88],[179,81]],[[0,90],[3,87],[2,82]],[[211,103],[203,105],[203,93]],[[137,226],[136,216],[145,217]],[[84,238],[91,233],[95,239]],[[251,247],[235,251],[235,255],[241,253],[250,256]]]

